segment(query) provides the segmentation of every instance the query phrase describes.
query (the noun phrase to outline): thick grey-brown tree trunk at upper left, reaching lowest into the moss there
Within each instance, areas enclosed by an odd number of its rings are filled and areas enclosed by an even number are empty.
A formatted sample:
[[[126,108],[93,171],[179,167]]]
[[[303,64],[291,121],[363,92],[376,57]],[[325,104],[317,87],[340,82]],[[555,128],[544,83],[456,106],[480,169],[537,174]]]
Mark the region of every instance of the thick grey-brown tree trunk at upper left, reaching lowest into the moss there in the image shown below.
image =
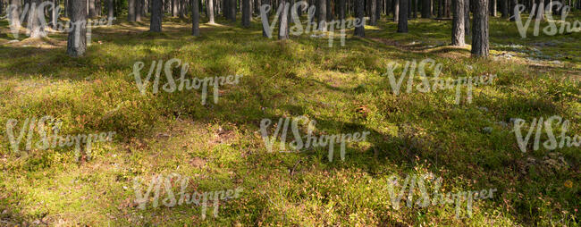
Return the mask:
[[[66,53],[72,57],[79,57],[87,50],[87,1],[69,0],[69,15],[71,29],[67,38]]]

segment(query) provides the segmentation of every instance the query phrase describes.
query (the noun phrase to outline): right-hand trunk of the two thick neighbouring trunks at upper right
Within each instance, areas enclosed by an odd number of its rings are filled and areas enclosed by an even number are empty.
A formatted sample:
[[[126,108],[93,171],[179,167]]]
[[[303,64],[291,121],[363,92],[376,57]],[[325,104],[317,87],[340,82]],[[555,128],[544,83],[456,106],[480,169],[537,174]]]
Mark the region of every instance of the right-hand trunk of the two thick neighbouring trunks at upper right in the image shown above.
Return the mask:
[[[474,22],[472,23],[472,55],[488,56],[488,0],[474,1]]]

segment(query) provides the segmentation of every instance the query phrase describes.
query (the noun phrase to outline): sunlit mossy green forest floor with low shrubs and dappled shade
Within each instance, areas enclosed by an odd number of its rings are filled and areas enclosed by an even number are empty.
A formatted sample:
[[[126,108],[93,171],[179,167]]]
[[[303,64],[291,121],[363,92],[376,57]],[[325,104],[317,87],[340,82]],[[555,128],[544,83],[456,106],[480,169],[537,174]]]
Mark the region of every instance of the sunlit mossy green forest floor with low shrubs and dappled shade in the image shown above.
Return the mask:
[[[147,31],[147,21],[116,21],[92,30],[80,58],[66,55],[64,33],[39,41],[23,40],[21,32],[21,41],[13,42],[7,21],[0,21],[0,225],[579,225],[581,148],[541,144],[534,150],[533,133],[522,152],[512,126],[524,119],[526,136],[534,119],[559,115],[570,121],[568,136],[581,135],[581,32],[534,37],[531,26],[520,38],[514,22],[493,18],[491,57],[475,59],[469,46],[448,46],[451,21],[411,20],[409,33],[398,34],[383,18],[379,26],[366,26],[366,38],[352,37],[349,29],[345,46],[335,38],[332,47],[328,38],[311,34],[263,38],[257,20],[250,29],[239,21],[201,24],[200,37],[190,35],[187,20],[164,18],[159,34]],[[134,64],[145,63],[145,78],[153,61],[172,58],[189,63],[188,78],[242,77],[220,87],[217,104],[209,88],[205,105],[201,88],[165,92],[164,74],[160,92],[147,88],[142,95]],[[458,103],[455,88],[419,92],[407,78],[396,95],[388,65],[426,58],[442,63],[443,79],[496,79],[475,86],[472,99],[461,88]],[[180,71],[175,68],[173,78]],[[402,71],[394,70],[395,78]],[[422,81],[416,77],[413,86]],[[27,118],[45,115],[62,120],[59,135],[116,134],[112,142],[93,143],[90,158],[79,162],[74,146],[32,146],[28,156],[15,154],[4,130],[9,119],[18,121],[18,136]],[[346,144],[344,161],[338,144],[332,162],[328,146],[293,151],[277,139],[269,152],[260,122],[301,115],[316,120],[317,136],[370,134]],[[307,134],[306,125],[299,128]],[[547,139],[543,133],[540,141]],[[40,141],[38,133],[31,141]],[[442,178],[440,189],[435,181],[425,184],[429,198],[434,190],[496,191],[475,200],[471,216],[466,202],[459,215],[450,203],[407,206],[418,193],[406,193],[394,208],[391,176],[401,184],[428,172],[432,180]],[[145,191],[158,174],[189,177],[190,193],[242,190],[221,200],[216,216],[214,201],[208,202],[205,219],[202,206],[164,206],[171,203],[166,184],[157,207],[150,195],[139,209],[134,179]],[[167,183],[175,199],[180,182]]]

